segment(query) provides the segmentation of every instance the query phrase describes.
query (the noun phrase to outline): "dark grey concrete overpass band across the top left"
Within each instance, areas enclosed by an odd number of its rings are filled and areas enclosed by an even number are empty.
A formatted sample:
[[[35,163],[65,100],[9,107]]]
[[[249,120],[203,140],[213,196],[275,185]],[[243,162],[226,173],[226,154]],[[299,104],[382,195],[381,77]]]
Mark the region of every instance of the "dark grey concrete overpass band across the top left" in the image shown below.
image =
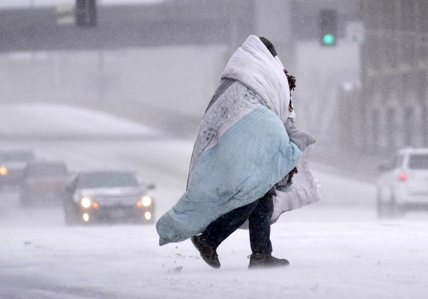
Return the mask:
[[[242,36],[255,32],[254,13],[254,2],[247,0],[98,5],[96,26],[78,27],[72,6],[4,9],[0,10],[0,52],[207,43],[235,48]]]

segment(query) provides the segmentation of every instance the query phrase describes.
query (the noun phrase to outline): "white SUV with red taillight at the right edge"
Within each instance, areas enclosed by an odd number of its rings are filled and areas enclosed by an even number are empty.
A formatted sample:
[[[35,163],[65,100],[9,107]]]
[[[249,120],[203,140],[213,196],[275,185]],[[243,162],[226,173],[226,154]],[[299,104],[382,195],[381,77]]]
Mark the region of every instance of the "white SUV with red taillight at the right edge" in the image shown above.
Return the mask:
[[[391,217],[428,210],[428,148],[406,148],[378,168],[377,215]]]

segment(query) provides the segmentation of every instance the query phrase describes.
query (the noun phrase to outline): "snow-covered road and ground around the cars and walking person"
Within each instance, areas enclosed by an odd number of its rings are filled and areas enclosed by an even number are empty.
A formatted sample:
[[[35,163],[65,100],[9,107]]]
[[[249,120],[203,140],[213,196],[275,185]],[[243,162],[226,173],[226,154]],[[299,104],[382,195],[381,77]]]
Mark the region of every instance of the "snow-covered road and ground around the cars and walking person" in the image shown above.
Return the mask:
[[[157,217],[185,188],[193,141],[2,141],[72,170],[131,168],[157,189]],[[158,245],[154,225],[64,225],[59,207],[22,210],[0,191],[0,298],[425,298],[428,214],[380,221],[374,186],[320,171],[319,203],[272,225],[282,269],[248,270],[248,232],[218,248],[212,269],[190,243]]]

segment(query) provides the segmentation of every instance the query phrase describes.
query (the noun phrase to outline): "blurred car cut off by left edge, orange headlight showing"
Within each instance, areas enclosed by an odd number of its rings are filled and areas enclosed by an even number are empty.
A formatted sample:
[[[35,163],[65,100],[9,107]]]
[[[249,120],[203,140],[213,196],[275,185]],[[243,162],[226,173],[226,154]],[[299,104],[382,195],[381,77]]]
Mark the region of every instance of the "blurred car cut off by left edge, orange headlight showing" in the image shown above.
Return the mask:
[[[20,185],[24,169],[34,158],[32,150],[0,150],[0,188]]]

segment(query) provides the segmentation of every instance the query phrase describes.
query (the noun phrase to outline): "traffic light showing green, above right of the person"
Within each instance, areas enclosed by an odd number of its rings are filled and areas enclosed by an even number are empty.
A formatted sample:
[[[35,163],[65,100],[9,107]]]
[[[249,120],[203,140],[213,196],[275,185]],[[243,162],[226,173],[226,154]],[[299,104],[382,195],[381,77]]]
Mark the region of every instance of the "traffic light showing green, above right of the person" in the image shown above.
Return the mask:
[[[319,42],[324,47],[336,45],[337,42],[337,11],[321,9],[319,11]]]

